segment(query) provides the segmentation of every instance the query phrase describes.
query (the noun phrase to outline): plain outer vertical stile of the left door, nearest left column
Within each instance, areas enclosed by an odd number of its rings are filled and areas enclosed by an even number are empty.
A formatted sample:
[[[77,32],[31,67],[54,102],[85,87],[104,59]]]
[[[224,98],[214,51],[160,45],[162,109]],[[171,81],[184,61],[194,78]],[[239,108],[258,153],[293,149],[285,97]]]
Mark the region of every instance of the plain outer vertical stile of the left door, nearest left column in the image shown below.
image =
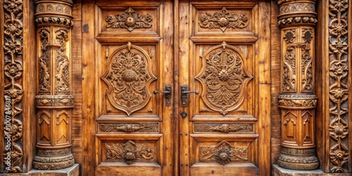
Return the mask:
[[[94,0],[82,2],[82,175],[94,175]]]

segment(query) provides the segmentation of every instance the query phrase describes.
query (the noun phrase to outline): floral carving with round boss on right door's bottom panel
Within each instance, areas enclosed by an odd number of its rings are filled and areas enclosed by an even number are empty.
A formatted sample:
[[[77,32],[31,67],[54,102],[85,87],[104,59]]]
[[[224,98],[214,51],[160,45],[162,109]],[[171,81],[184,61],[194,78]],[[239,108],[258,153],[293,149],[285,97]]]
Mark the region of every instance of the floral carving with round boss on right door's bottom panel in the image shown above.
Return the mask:
[[[248,161],[248,146],[232,146],[222,141],[216,146],[200,147],[200,161],[217,161],[225,165],[230,161]]]

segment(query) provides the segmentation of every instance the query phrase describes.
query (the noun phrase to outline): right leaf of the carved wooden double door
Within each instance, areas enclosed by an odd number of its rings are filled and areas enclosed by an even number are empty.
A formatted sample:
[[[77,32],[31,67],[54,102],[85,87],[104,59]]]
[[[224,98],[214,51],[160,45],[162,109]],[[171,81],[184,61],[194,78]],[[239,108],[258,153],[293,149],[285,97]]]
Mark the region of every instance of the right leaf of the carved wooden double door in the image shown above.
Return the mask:
[[[270,175],[269,29],[270,1],[181,1],[180,175]]]

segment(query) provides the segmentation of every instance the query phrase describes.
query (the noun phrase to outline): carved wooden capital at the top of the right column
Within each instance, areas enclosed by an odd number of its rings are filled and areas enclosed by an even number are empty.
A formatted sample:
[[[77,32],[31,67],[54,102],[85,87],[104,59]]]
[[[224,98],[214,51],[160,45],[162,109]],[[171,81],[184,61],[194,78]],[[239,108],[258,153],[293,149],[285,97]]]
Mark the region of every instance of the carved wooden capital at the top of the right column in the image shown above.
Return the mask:
[[[278,25],[315,25],[315,0],[279,0]]]

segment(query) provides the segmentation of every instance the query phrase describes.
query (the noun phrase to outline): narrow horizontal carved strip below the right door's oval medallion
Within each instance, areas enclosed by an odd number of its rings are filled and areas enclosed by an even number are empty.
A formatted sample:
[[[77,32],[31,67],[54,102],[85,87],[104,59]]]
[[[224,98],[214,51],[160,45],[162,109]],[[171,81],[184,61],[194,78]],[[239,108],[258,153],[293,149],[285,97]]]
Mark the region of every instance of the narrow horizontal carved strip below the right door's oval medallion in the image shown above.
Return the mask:
[[[195,123],[194,132],[253,132],[253,124]]]

